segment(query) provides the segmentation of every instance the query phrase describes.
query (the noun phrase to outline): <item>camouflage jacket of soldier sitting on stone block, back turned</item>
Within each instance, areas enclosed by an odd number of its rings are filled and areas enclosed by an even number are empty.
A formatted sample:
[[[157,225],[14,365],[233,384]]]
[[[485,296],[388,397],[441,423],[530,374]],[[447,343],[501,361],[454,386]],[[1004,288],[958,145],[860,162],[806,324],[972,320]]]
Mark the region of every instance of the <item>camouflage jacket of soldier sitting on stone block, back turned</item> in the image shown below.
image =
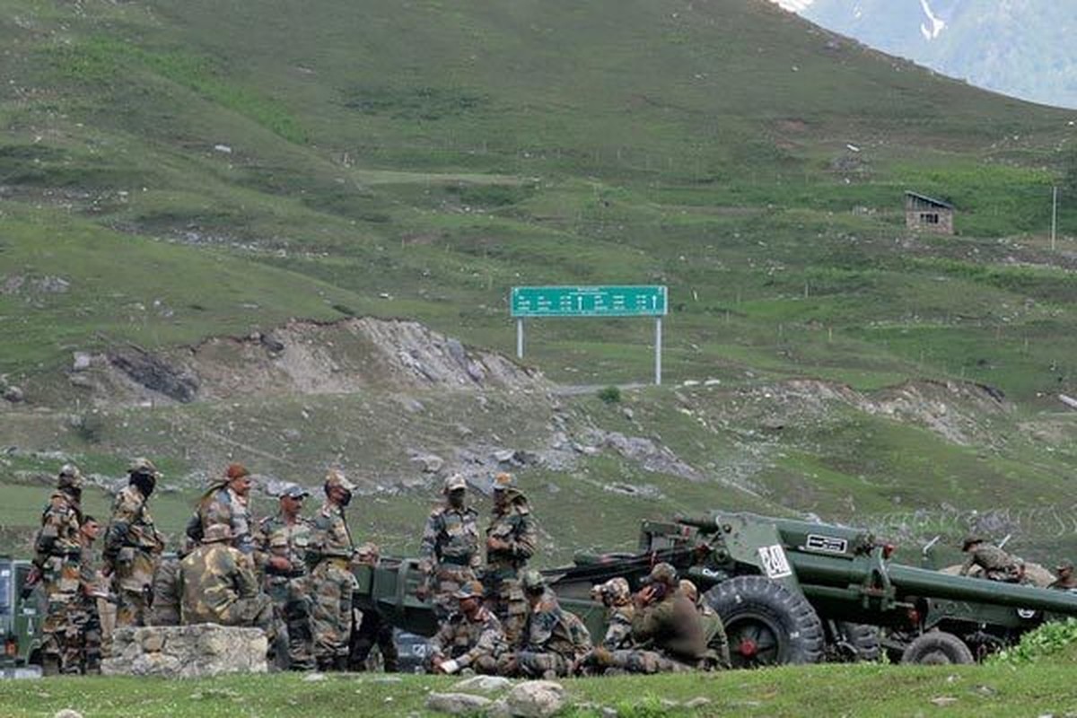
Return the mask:
[[[215,623],[240,599],[257,595],[250,559],[225,543],[204,544],[180,562],[184,623]]]

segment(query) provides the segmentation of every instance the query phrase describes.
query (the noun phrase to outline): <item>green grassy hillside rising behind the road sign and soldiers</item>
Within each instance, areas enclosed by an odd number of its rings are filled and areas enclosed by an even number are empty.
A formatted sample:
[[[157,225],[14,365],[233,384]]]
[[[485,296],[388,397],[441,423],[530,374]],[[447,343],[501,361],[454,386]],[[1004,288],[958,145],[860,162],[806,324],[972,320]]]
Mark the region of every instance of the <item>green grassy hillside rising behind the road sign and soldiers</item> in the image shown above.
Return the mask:
[[[17,448],[0,480],[26,498],[4,509],[16,545],[60,455],[115,476],[148,453],[174,479],[242,459],[313,484],[341,462],[392,488],[358,520],[406,549],[433,481],[409,450],[536,450],[561,431],[553,405],[508,395],[478,416],[472,397],[430,395],[409,416],[374,388],[95,413],[72,352],[370,314],[508,354],[510,286],[631,282],[670,287],[668,383],[721,389],[632,394],[635,419],[585,393],[564,399],[569,433],[648,438],[703,480],[609,449],[527,469],[551,557],[714,504],[917,539],[1009,511],[999,531],[1027,532],[1030,552],[1068,546],[1072,531],[1020,512],[1064,516],[1077,478],[1074,420],[1049,413],[1077,395],[1077,208],[1055,248],[1045,234],[1069,114],[765,0],[0,10],[0,383],[26,393],[0,402],[0,446]],[[910,235],[905,189],[952,200],[959,235]],[[526,362],[564,384],[646,380],[652,333],[531,322]],[[872,402],[980,383],[1008,408],[946,391],[910,399],[914,418],[791,398],[805,379]],[[931,430],[948,411],[976,431]],[[160,497],[170,531],[191,483]],[[600,526],[584,521],[595,505]]]

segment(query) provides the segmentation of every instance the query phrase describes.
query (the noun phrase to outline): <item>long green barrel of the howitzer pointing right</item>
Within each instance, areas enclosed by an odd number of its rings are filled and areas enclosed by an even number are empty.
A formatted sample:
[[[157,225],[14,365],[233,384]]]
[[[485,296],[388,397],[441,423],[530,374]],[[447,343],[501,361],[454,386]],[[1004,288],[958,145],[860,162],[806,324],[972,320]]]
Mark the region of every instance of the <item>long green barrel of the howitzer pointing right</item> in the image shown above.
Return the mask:
[[[865,585],[872,566],[882,567],[890,582],[897,590],[897,597],[947,599],[950,601],[973,601],[977,603],[1046,610],[1067,616],[1077,616],[1077,594],[1052,591],[1033,586],[1002,583],[982,578],[950,576],[926,568],[915,568],[896,563],[876,563],[864,560],[848,560],[811,553],[788,551],[789,564],[802,585],[849,588]],[[806,589],[807,590],[807,589]]]

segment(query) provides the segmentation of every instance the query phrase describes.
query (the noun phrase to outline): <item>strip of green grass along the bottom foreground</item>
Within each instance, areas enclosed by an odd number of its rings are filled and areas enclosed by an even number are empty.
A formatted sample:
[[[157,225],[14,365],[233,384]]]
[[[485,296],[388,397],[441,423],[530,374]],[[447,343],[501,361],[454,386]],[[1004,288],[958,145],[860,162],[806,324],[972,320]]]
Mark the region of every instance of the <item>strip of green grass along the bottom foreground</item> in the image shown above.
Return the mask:
[[[708,676],[589,678],[564,681],[572,707],[565,717],[591,718],[614,707],[633,718],[669,716],[1013,716],[1064,715],[1077,708],[1072,663],[1036,666],[821,665],[738,671]],[[0,692],[0,713],[48,717],[62,708],[85,716],[265,718],[435,715],[423,709],[430,691],[447,691],[454,678],[331,675],[230,676],[201,680],[56,678],[13,681]],[[870,700],[869,700],[870,696]],[[662,700],[709,702],[695,710]],[[362,707],[361,707],[362,706]],[[364,708],[365,707],[365,708]]]

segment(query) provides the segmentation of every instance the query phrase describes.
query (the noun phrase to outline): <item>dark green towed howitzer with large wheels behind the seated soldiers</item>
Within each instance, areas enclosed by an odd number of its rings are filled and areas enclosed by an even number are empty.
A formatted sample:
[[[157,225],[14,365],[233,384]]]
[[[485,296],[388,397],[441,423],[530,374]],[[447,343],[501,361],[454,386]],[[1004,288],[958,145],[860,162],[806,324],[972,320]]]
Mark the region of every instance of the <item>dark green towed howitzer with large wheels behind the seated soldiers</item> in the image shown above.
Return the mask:
[[[891,562],[894,547],[858,529],[714,511],[643,523],[639,550],[578,554],[544,572],[562,605],[604,631],[590,589],[615,576],[637,589],[667,561],[694,580],[726,623],[736,666],[875,660],[971,663],[1055,618],[1077,595],[948,576]],[[359,601],[400,628],[431,635],[415,597],[416,560],[358,569]],[[885,636],[885,637],[883,637]]]

